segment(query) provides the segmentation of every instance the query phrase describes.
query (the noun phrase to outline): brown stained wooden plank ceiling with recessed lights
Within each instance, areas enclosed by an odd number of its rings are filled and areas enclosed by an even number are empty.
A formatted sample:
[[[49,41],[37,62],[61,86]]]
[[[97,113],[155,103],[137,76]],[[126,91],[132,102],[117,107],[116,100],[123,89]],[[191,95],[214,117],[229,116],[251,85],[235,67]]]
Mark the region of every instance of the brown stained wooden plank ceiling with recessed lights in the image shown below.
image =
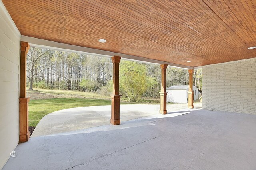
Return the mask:
[[[256,57],[256,0],[2,1],[29,37],[192,67]]]

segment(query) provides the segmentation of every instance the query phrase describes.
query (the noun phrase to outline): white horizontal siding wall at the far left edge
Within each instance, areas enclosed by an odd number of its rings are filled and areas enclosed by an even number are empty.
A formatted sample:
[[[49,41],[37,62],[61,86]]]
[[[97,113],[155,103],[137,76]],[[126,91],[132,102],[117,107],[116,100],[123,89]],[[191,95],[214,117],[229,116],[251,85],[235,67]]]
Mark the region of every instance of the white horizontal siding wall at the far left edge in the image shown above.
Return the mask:
[[[19,141],[20,37],[0,0],[0,169]]]

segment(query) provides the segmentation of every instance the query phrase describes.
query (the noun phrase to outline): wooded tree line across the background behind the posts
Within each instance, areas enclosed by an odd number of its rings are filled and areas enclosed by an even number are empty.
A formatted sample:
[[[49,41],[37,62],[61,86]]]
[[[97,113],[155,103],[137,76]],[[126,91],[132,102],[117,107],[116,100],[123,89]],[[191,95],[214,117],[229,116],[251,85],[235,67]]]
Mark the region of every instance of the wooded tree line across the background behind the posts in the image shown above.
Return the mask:
[[[31,47],[27,57],[27,86],[80,90],[109,95],[113,64],[110,58]],[[159,97],[159,65],[121,60],[120,93],[132,101]],[[166,86],[188,85],[188,71],[167,68]],[[202,70],[194,71],[194,85],[202,89]]]

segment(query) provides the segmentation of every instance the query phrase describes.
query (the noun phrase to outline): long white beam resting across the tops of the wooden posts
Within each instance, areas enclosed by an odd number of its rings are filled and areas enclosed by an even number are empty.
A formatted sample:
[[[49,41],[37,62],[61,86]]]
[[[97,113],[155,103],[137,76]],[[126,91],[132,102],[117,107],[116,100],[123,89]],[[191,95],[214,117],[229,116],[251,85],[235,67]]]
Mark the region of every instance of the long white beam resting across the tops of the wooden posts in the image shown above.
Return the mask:
[[[174,63],[168,63],[164,61],[158,61],[153,59],[147,59],[144,57],[138,57],[134,55],[126,55],[121,53],[113,53],[110,51],[104,51],[99,49],[92,49],[87,47],[80,47],[76,45],[69,45],[64,43],[57,43],[54,41],[48,41],[44,39],[38,39],[33,37],[27,37],[22,35],[21,41],[28,42],[31,47],[38,47],[38,48],[45,48],[45,49],[52,49],[52,50],[59,50],[59,51],[67,51],[72,53],[80,53],[80,54],[86,54],[86,55],[95,55],[100,57],[112,57],[114,55],[120,56],[123,59],[130,60],[130,61],[138,61],[141,63],[150,63],[150,64],[168,64],[170,67],[175,68],[182,68],[182,69],[193,69],[193,67],[190,66],[184,66],[180,64],[174,64]]]

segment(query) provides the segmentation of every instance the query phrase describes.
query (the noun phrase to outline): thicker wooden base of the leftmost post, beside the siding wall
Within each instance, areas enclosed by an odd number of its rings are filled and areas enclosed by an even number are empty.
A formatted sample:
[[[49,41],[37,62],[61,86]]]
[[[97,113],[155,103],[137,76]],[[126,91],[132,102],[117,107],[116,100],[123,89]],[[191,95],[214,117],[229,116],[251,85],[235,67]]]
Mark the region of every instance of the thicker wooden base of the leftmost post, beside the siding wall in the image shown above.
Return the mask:
[[[28,102],[30,98],[19,98],[20,105],[20,140],[19,143],[27,142],[30,133],[28,131]]]

